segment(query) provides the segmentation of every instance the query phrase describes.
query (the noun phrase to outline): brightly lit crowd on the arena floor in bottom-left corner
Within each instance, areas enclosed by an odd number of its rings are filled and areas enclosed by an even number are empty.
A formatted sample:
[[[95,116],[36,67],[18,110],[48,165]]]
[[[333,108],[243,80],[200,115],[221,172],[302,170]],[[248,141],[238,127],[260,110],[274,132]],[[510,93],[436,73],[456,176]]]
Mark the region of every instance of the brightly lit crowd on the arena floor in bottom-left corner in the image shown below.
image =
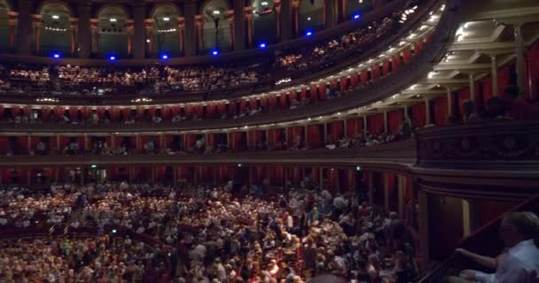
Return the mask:
[[[160,249],[106,234],[0,241],[0,281],[6,283],[150,282],[145,278],[159,277],[165,266]]]

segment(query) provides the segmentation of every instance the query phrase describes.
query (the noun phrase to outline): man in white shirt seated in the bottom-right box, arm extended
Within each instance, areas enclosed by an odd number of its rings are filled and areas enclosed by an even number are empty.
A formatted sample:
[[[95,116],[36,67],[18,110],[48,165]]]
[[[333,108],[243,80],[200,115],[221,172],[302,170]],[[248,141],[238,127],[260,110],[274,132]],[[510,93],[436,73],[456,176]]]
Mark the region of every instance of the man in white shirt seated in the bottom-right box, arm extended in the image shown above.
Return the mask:
[[[499,231],[506,249],[496,258],[480,256],[466,249],[456,250],[458,254],[470,257],[485,267],[496,268],[495,273],[464,270],[459,278],[449,278],[448,281],[539,282],[539,218],[529,211],[512,212],[504,217]]]

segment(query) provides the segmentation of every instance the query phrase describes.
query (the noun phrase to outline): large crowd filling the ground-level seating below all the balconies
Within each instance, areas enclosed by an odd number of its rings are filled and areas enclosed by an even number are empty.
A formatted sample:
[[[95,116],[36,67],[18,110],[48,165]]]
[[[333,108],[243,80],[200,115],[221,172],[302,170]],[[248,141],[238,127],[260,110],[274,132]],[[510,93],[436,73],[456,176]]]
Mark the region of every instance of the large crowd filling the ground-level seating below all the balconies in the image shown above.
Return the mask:
[[[121,227],[164,243],[174,282],[305,282],[327,273],[357,282],[407,282],[417,276],[413,241],[396,213],[308,180],[284,195],[264,187],[123,182],[53,185],[48,194],[72,195],[74,207],[82,208],[68,226]],[[146,261],[159,257],[129,238],[111,244],[106,233],[0,246],[0,261],[18,267],[0,268],[0,279],[138,282]]]

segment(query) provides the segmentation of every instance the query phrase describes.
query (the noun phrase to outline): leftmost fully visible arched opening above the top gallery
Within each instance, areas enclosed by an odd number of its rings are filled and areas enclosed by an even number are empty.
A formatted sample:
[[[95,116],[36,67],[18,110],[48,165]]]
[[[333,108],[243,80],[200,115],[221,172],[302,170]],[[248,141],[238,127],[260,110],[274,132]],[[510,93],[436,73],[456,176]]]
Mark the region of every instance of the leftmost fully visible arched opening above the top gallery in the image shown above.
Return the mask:
[[[44,4],[38,11],[41,15],[41,27],[34,29],[35,53],[39,55],[51,55],[60,53],[69,56],[74,53],[76,38],[71,29],[71,12],[66,4],[51,2]],[[28,19],[20,19],[28,20]],[[38,33],[37,36],[35,33]]]

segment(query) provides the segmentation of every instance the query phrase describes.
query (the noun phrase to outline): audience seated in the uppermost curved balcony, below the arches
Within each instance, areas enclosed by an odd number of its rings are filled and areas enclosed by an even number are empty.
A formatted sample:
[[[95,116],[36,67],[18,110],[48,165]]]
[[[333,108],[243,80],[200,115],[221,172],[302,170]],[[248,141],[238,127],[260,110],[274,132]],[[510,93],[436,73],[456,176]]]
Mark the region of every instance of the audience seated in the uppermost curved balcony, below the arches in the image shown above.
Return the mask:
[[[316,42],[301,50],[277,51],[266,57],[249,57],[221,65],[152,65],[122,68],[119,66],[79,65],[2,65],[0,94],[25,94],[35,90],[49,91],[51,95],[116,95],[163,94],[174,92],[227,91],[242,86],[269,82],[285,71],[325,68],[350,51],[368,49],[379,38],[394,33],[399,17],[405,11],[418,8],[418,0],[410,1],[402,10],[394,11],[385,19],[371,22],[367,27],[343,34],[324,42]],[[52,79],[54,78],[54,79]]]

